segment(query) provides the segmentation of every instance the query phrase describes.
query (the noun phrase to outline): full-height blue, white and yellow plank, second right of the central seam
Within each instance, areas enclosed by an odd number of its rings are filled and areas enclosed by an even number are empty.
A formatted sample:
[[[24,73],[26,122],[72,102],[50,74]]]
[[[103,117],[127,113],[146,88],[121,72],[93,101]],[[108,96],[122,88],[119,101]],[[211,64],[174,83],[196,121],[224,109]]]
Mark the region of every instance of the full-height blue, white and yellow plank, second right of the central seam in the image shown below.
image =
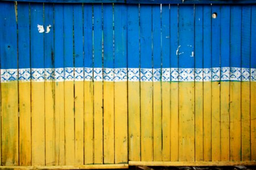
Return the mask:
[[[152,6],[140,8],[141,46],[141,160],[153,160],[152,115]]]

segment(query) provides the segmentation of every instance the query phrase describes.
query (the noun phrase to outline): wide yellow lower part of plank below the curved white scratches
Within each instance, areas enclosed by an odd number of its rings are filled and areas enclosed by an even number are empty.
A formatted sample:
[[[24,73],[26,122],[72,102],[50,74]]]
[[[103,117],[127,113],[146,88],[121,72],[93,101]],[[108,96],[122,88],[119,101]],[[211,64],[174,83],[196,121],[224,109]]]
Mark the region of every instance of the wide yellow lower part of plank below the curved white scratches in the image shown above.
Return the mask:
[[[195,84],[179,83],[179,161],[195,159]]]

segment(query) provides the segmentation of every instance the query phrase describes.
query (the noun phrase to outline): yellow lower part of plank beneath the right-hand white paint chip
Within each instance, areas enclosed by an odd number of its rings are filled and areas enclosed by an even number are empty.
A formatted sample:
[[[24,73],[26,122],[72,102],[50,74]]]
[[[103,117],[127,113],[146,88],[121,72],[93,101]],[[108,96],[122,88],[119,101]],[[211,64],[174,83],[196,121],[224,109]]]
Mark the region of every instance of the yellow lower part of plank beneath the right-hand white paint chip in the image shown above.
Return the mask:
[[[46,165],[55,162],[55,130],[54,130],[54,82],[45,82],[45,114],[46,114]],[[30,99],[30,97],[29,97]]]

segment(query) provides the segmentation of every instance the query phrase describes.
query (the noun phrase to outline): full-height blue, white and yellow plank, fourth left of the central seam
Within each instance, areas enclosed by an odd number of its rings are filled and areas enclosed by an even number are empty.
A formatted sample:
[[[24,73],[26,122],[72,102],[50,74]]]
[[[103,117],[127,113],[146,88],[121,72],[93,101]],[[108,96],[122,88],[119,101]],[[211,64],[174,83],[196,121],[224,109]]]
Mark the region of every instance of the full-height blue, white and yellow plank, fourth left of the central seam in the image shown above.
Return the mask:
[[[93,11],[84,4],[84,164],[93,163]]]

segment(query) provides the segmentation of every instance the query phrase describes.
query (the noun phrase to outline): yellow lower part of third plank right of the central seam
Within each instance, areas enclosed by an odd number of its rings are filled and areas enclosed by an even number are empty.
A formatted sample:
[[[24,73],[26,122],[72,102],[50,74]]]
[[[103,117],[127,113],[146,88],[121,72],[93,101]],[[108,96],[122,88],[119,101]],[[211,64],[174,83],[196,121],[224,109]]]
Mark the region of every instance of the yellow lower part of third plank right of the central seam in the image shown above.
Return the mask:
[[[167,86],[170,96],[170,83]],[[167,93],[167,91],[165,91]],[[169,97],[170,103],[170,97]],[[170,105],[167,109],[169,111],[169,121],[170,121]],[[161,82],[153,83],[153,120],[154,120],[154,161],[162,161],[162,90]],[[170,130],[170,126],[169,126]],[[169,131],[170,132],[170,131]],[[170,133],[168,134],[170,141]],[[164,142],[164,140],[163,140]],[[170,155],[170,142],[168,143],[169,150],[167,152]],[[164,151],[164,149],[163,149]]]

